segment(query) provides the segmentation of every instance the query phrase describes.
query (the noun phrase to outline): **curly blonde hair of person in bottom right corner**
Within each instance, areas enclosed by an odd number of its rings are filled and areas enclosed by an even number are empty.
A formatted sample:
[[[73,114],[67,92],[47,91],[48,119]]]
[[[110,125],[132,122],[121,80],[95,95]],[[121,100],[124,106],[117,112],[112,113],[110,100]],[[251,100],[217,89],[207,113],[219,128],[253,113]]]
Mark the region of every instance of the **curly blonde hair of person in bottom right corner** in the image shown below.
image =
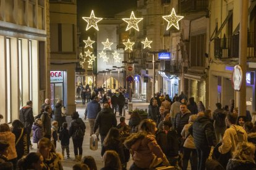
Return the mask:
[[[254,163],[255,145],[250,142],[241,142],[237,145],[236,151],[233,152],[233,158]]]

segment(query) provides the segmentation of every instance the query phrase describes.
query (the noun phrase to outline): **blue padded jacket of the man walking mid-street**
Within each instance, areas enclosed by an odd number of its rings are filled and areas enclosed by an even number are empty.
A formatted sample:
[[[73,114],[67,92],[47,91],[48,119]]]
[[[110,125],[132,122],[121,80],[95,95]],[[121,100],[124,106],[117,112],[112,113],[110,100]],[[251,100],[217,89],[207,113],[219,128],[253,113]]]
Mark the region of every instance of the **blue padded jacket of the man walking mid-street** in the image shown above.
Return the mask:
[[[92,100],[87,104],[87,108],[85,110],[85,118],[96,119],[100,111],[100,103],[98,103],[96,100]]]

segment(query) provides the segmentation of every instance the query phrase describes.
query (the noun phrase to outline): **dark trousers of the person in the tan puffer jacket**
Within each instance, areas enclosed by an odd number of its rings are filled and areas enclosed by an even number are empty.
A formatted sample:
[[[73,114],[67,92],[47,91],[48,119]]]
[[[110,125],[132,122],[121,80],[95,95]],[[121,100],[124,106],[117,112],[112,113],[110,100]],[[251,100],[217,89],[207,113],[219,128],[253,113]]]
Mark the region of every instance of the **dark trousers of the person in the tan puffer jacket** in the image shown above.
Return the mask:
[[[192,152],[192,156],[190,156]],[[190,159],[191,158],[191,159]],[[192,170],[197,169],[197,149],[192,149],[192,148],[183,148],[183,158],[182,158],[182,170],[187,169],[187,164],[189,163],[190,160],[190,165]]]

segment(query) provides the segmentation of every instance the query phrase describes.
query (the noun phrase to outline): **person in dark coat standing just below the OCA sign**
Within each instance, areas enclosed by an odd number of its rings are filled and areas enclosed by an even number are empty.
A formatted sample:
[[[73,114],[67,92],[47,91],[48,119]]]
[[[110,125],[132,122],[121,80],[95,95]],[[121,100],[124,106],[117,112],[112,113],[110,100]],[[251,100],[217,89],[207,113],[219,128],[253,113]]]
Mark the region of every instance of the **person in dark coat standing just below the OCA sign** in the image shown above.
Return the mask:
[[[58,121],[59,124],[59,128],[61,127],[61,125],[66,122],[66,108],[63,107],[63,101],[62,100],[58,100],[56,105],[55,105],[55,109],[54,109],[54,120]],[[58,129],[58,133],[59,133]]]

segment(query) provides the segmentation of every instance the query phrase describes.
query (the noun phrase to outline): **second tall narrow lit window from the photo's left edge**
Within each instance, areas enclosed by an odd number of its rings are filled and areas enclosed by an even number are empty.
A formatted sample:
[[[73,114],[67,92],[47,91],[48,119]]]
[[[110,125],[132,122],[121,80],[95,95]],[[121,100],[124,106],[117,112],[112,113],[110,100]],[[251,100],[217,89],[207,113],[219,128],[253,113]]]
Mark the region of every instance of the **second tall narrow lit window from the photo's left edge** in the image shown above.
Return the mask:
[[[19,39],[19,91],[20,91],[20,108],[22,108],[23,105],[23,96],[22,96],[22,40]]]

